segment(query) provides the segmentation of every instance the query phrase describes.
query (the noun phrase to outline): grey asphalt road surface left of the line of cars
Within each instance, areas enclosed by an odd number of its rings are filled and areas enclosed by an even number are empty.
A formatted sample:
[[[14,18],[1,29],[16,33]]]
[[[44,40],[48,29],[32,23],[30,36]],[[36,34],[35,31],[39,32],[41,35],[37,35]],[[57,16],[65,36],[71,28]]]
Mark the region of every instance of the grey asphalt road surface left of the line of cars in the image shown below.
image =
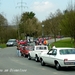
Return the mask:
[[[16,47],[0,49],[0,75],[75,75],[74,68],[57,71],[51,66],[17,56]]]

